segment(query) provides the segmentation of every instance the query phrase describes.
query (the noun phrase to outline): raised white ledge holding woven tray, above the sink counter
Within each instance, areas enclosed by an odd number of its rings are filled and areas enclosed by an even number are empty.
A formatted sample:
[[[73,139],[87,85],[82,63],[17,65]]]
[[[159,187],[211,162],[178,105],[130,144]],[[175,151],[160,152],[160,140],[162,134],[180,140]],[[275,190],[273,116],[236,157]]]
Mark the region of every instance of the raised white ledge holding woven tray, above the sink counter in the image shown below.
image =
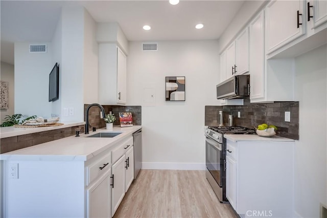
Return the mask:
[[[60,123],[60,121],[59,121]],[[31,133],[39,133],[43,131],[49,131],[59,128],[66,128],[71,126],[79,126],[79,125],[85,125],[85,122],[64,122],[63,125],[60,126],[44,126],[44,127],[34,127],[34,128],[17,128],[17,127],[1,127],[0,128],[0,139],[12,137],[12,136],[20,136],[25,134],[31,134]]]

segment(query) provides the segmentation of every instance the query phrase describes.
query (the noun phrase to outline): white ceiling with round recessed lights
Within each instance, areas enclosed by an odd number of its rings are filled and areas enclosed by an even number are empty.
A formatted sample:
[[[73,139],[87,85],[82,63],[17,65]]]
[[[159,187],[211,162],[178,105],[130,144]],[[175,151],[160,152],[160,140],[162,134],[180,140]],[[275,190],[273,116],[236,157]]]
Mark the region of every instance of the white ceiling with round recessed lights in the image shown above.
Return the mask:
[[[1,1],[1,61],[20,42],[48,42],[63,6],[81,5],[97,22],[117,22],[129,41],[218,39],[244,1]],[[198,23],[203,29],[195,29]],[[151,30],[142,29],[150,25]]]

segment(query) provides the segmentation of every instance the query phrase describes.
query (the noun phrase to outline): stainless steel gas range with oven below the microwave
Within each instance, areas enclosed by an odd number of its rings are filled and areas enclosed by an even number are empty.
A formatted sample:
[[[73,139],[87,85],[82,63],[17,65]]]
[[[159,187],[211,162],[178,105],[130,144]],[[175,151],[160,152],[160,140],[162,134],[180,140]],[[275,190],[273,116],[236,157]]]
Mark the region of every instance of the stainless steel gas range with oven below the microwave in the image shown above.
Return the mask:
[[[226,139],[224,134],[256,134],[240,126],[209,126],[205,129],[205,176],[220,202],[226,198]]]

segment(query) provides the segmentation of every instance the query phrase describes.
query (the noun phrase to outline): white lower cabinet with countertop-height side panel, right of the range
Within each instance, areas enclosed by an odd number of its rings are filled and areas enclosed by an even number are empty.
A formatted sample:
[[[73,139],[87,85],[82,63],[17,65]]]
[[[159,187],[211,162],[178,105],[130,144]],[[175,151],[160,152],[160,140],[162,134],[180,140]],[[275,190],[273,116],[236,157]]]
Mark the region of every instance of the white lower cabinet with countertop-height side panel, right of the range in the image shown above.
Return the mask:
[[[293,217],[293,147],[286,141],[227,140],[226,197],[241,217]]]

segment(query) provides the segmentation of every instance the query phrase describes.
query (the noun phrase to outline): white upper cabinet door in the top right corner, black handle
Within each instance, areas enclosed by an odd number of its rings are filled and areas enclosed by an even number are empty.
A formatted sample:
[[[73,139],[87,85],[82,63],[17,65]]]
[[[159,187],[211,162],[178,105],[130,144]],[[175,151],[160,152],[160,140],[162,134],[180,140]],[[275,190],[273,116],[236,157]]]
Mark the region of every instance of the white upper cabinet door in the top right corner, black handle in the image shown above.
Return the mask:
[[[312,29],[315,29],[327,22],[327,1],[315,0],[307,2],[307,21],[312,25]]]

